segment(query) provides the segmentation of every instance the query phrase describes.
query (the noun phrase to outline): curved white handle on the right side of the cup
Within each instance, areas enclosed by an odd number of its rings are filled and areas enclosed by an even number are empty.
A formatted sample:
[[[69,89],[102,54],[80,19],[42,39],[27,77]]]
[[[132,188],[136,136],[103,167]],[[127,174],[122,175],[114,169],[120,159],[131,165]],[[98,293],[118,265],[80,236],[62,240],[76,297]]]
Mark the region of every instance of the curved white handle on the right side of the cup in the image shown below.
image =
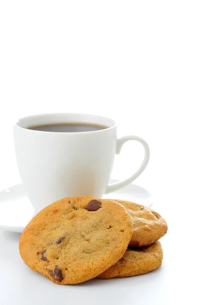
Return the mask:
[[[142,174],[142,172],[145,170],[145,168],[149,162],[149,157],[150,157],[149,145],[147,144],[147,142],[144,139],[137,137],[137,136],[125,136],[125,137],[118,139],[116,154],[119,155],[123,144],[130,140],[138,141],[143,145],[143,147],[145,149],[145,157],[144,157],[143,163],[141,164],[141,166],[137,170],[137,172],[134,173],[133,175],[131,175],[130,177],[128,177],[127,179],[109,185],[105,191],[105,194],[112,193],[112,192],[128,185],[132,181],[134,181],[136,178],[138,178],[140,176],[140,174]]]

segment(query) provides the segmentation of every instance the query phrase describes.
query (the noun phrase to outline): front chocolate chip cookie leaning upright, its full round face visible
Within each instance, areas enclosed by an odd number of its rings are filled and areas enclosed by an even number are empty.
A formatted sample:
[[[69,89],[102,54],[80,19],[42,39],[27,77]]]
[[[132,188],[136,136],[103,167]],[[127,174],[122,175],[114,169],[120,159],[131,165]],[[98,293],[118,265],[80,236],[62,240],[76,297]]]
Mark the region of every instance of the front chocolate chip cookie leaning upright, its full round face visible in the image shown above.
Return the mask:
[[[125,253],[132,222],[114,201],[68,197],[39,212],[24,229],[20,255],[57,284],[77,284],[104,272]]]

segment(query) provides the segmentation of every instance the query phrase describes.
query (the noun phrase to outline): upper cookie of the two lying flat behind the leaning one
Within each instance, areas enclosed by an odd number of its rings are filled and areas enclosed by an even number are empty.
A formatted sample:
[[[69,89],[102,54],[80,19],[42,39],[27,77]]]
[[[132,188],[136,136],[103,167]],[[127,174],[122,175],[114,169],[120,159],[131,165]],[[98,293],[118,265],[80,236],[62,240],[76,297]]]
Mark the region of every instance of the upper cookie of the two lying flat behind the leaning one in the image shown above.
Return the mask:
[[[114,201],[121,203],[132,219],[133,232],[129,246],[151,245],[167,232],[166,221],[153,209],[130,201]]]

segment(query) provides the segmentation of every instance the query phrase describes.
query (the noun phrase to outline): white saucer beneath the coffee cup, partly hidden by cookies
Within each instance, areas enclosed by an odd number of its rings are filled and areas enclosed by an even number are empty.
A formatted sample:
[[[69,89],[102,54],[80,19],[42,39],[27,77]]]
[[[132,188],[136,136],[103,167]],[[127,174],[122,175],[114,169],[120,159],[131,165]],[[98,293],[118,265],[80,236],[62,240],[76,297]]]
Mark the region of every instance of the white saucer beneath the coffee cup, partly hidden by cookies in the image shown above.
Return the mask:
[[[110,183],[117,182],[111,180]],[[133,184],[104,195],[103,198],[124,199],[134,201],[145,206],[152,205],[151,194]],[[21,233],[31,218],[35,215],[22,184],[13,186],[0,192],[0,229]]]

